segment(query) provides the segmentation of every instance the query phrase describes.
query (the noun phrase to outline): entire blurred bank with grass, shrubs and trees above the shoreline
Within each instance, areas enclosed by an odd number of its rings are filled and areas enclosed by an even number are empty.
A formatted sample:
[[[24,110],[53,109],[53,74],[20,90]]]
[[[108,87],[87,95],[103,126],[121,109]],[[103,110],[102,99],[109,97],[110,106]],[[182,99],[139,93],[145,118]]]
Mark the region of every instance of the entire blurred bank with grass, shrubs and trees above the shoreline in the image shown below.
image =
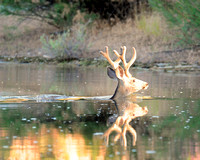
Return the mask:
[[[142,64],[200,64],[196,0],[0,0],[1,57],[99,58],[122,45]]]

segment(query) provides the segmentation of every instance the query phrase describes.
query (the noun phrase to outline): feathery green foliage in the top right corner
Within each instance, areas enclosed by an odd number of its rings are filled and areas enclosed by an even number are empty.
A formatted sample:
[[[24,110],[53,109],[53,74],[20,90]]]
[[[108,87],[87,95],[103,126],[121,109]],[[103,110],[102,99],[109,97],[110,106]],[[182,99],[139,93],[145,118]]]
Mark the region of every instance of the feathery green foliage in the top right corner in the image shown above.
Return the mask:
[[[179,44],[200,44],[200,3],[196,0],[149,0],[150,5],[161,12],[177,29]]]

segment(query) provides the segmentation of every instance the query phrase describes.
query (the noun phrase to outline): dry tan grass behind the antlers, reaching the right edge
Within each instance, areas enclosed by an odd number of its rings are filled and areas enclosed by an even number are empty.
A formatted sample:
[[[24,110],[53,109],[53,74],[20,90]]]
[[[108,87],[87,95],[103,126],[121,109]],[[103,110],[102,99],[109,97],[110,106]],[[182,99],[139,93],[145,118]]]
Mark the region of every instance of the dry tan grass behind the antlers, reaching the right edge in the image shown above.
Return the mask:
[[[120,51],[122,45],[127,46],[130,58],[132,47],[137,50],[137,62],[175,62],[199,63],[200,55],[197,50],[177,50],[176,33],[170,29],[165,20],[158,13],[141,14],[135,20],[118,22],[110,27],[106,22],[96,22],[91,29],[91,52],[94,57],[99,56],[99,50],[109,46]],[[167,52],[163,52],[167,51]],[[172,52],[168,52],[172,51]]]

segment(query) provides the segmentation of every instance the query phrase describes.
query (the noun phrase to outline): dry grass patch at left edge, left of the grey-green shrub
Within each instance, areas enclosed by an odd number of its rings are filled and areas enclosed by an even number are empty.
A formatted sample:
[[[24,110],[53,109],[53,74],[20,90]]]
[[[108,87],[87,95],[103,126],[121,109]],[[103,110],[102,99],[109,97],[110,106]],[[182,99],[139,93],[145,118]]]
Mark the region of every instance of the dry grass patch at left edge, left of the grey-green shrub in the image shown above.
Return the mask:
[[[15,16],[0,16],[0,55],[39,56],[40,36],[55,32],[55,28],[45,23]]]

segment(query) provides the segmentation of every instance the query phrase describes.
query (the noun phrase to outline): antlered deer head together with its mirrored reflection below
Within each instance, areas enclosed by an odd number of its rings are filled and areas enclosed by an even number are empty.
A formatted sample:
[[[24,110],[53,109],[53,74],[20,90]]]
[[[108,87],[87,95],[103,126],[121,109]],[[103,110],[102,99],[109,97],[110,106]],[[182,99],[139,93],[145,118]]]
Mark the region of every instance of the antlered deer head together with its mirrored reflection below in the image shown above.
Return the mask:
[[[107,68],[108,76],[111,79],[118,81],[117,88],[115,93],[111,97],[115,101],[116,105],[118,104],[119,108],[122,110],[119,111],[120,116],[117,117],[115,123],[104,133],[104,136],[107,139],[107,144],[109,142],[109,136],[113,131],[116,131],[118,134],[115,136],[114,141],[118,141],[120,137],[123,139],[123,144],[127,146],[126,132],[129,131],[133,136],[133,145],[136,144],[137,134],[135,129],[129,124],[134,118],[144,116],[147,114],[147,107],[140,107],[134,101],[127,100],[127,96],[131,95],[134,92],[137,92],[141,89],[147,89],[148,83],[136,79],[129,72],[129,68],[136,60],[136,50],[133,47],[133,55],[130,61],[126,62],[126,47],[121,47],[121,54],[116,50],[113,50],[114,54],[118,57],[117,60],[113,61],[108,52],[108,47],[106,46],[106,51],[101,51],[100,53],[108,60],[112,68]],[[119,64],[122,62],[122,68]],[[117,107],[117,106],[116,106]]]

